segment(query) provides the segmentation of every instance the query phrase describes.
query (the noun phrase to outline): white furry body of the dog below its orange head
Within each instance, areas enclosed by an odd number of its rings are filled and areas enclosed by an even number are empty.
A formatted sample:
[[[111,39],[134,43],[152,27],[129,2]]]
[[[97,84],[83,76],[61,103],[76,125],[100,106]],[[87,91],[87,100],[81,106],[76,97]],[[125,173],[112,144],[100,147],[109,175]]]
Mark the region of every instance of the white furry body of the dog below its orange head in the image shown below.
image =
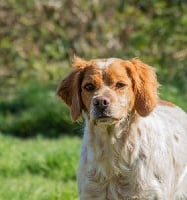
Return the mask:
[[[81,200],[187,199],[187,115],[180,108],[158,105],[115,125],[85,118]]]

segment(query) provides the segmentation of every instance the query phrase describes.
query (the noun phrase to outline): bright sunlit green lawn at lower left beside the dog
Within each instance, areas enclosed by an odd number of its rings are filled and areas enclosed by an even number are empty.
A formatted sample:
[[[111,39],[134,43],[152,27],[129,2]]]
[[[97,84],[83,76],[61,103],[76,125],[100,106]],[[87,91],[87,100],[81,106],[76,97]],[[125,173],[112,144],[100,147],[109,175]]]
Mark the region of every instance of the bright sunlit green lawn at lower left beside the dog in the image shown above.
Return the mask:
[[[0,135],[0,200],[76,200],[78,137]]]

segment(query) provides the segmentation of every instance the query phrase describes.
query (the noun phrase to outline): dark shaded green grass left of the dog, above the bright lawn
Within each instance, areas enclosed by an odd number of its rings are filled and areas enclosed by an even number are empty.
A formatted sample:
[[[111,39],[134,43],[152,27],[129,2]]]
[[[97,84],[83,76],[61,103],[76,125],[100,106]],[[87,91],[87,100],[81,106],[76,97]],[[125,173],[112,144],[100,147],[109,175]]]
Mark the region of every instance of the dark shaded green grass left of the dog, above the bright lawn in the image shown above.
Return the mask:
[[[28,82],[0,98],[0,132],[28,138],[79,135],[81,123],[73,123],[69,109],[55,95],[56,86]]]

